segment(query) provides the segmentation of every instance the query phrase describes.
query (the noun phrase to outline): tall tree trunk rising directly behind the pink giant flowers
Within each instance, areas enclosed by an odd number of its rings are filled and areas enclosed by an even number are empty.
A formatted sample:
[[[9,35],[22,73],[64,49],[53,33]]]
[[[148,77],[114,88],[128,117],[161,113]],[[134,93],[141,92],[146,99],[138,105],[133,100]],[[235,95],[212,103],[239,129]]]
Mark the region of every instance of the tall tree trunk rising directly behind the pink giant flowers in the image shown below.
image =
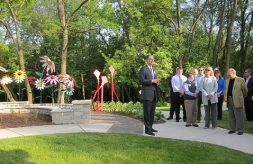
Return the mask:
[[[61,75],[67,74],[67,47],[68,47],[68,25],[66,23],[65,18],[65,11],[64,11],[64,2],[63,0],[58,1],[58,13],[59,18],[61,21],[62,27],[62,48],[60,52],[61,56]],[[59,85],[59,92],[58,92],[58,103],[64,103],[64,91],[63,91],[64,84]]]

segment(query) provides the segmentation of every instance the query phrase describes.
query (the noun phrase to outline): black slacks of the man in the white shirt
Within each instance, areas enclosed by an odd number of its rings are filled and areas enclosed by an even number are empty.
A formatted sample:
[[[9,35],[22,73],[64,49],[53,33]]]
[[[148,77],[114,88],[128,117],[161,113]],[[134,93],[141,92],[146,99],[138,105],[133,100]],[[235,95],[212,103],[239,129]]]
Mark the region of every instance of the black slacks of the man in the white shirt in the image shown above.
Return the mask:
[[[183,107],[183,119],[186,121],[186,112],[183,96],[180,97],[179,92],[173,92],[171,96],[171,103],[173,104],[171,109],[174,109],[176,113],[176,120],[179,120],[180,118],[180,105],[181,105]]]

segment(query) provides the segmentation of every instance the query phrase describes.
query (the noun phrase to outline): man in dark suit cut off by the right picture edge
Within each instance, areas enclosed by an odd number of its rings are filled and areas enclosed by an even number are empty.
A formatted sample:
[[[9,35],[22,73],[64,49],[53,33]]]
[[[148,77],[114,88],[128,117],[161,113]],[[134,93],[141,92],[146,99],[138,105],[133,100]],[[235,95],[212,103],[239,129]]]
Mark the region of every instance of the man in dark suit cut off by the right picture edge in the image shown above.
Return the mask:
[[[251,73],[251,69],[246,69],[244,71],[244,80],[248,88],[247,97],[244,99],[245,113],[248,121],[253,121],[253,77]]]

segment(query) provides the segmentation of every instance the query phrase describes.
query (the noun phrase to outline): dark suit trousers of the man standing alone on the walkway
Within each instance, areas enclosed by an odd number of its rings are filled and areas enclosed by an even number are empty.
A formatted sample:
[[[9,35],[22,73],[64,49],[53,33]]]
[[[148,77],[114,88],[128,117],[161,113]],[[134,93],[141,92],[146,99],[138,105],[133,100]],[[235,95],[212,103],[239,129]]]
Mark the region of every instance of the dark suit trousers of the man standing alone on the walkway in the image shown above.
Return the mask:
[[[143,101],[145,131],[149,131],[152,129],[155,117],[155,106],[156,106],[155,98],[153,99],[153,101],[150,100]]]

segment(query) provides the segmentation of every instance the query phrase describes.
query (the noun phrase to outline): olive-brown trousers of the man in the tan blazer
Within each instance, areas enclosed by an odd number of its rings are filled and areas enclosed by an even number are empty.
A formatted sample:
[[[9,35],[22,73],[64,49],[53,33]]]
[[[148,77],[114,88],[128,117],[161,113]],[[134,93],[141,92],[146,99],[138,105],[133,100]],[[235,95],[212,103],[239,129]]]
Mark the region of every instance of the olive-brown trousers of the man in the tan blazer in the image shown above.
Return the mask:
[[[233,98],[228,97],[229,130],[243,132],[243,108],[235,108]]]

